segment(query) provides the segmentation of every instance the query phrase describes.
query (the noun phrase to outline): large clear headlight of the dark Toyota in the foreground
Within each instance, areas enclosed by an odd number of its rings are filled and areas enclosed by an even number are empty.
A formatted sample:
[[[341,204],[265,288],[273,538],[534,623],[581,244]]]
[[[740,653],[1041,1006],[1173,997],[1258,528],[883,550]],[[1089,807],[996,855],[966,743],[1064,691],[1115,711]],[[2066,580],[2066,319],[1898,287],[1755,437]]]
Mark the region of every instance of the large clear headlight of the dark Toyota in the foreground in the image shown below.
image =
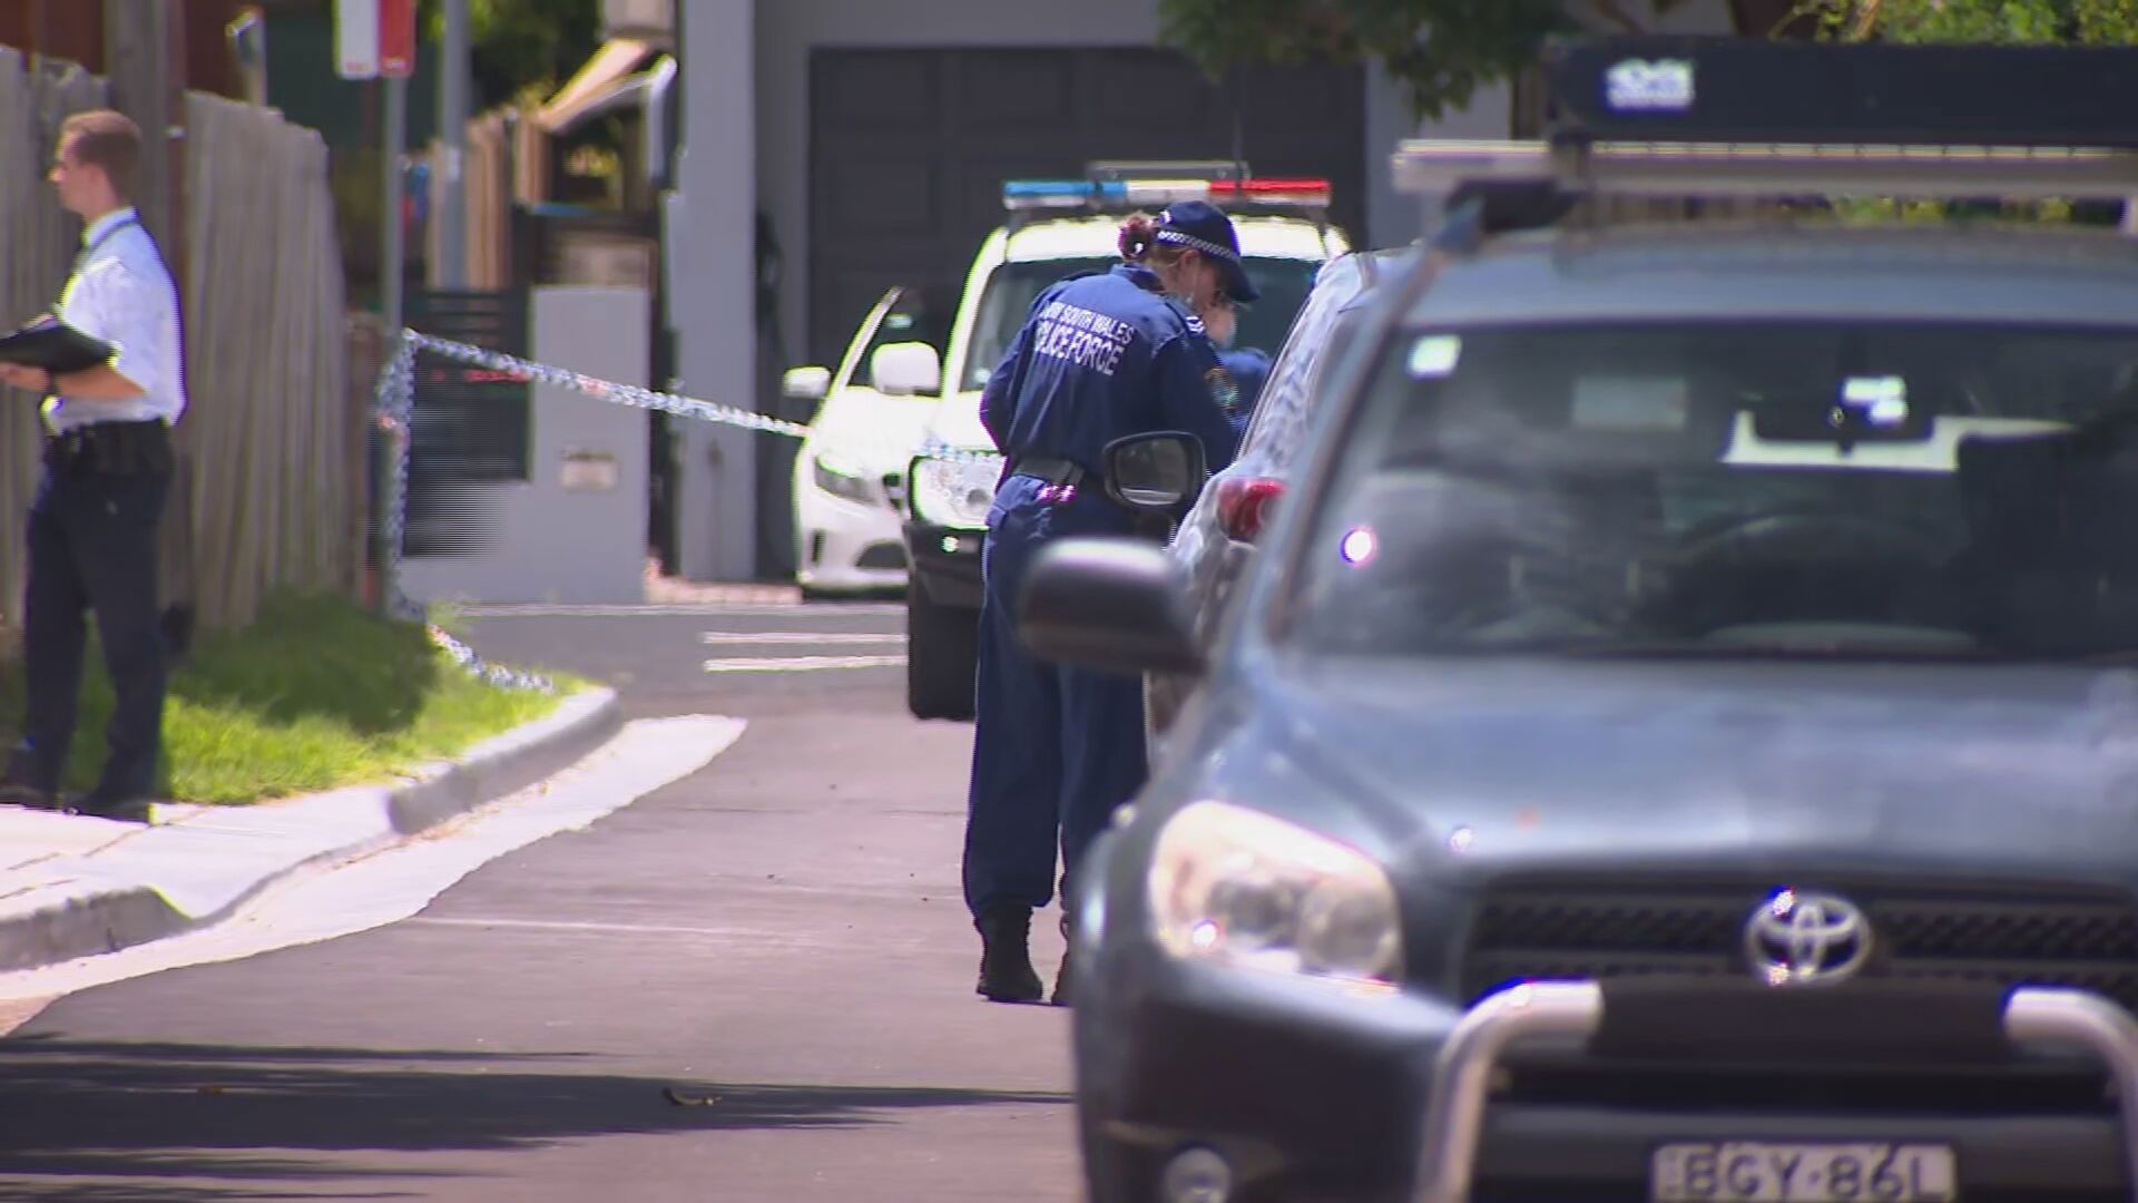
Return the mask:
[[[1373,987],[1403,978],[1388,873],[1334,839],[1227,803],[1165,820],[1150,916],[1174,957]]]

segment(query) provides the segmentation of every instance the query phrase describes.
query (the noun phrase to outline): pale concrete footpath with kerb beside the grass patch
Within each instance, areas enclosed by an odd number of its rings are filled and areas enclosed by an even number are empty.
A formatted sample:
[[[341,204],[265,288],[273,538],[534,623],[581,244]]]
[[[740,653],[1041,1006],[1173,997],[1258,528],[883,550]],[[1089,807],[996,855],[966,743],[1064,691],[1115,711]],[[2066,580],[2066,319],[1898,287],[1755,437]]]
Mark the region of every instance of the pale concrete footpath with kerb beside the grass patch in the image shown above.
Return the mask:
[[[0,807],[0,972],[214,925],[306,865],[359,856],[520,792],[622,728],[614,689],[389,786],[252,807],[156,807],[141,826]]]

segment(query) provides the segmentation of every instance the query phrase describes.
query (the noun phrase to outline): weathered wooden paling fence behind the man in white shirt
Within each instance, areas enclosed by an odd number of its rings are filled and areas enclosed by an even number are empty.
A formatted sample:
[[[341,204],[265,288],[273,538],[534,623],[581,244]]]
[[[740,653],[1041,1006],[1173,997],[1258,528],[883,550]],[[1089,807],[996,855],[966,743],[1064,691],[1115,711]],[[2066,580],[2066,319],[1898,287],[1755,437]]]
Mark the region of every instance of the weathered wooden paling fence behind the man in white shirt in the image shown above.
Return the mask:
[[[45,184],[66,113],[105,103],[79,68],[0,47],[0,323],[51,306],[79,223]],[[368,484],[327,146],[276,111],[186,96],[180,280],[190,407],[165,522],[165,595],[203,627],[252,619],[276,587],[355,591]],[[368,400],[368,398],[363,398]],[[0,398],[0,619],[19,623],[32,398]]]

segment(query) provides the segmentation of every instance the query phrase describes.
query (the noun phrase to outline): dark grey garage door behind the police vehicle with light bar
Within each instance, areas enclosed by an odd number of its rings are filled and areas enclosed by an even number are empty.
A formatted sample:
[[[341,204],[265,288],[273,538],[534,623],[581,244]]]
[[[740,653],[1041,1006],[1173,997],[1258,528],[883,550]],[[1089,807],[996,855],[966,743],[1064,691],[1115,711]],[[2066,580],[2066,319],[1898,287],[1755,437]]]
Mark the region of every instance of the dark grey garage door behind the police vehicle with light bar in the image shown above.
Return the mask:
[[[1238,118],[1238,120],[1236,120]],[[917,285],[941,347],[1003,180],[1078,178],[1093,158],[1231,158],[1326,176],[1364,229],[1358,66],[1217,86],[1163,49],[819,49],[810,56],[808,362],[830,364],[892,285]]]

